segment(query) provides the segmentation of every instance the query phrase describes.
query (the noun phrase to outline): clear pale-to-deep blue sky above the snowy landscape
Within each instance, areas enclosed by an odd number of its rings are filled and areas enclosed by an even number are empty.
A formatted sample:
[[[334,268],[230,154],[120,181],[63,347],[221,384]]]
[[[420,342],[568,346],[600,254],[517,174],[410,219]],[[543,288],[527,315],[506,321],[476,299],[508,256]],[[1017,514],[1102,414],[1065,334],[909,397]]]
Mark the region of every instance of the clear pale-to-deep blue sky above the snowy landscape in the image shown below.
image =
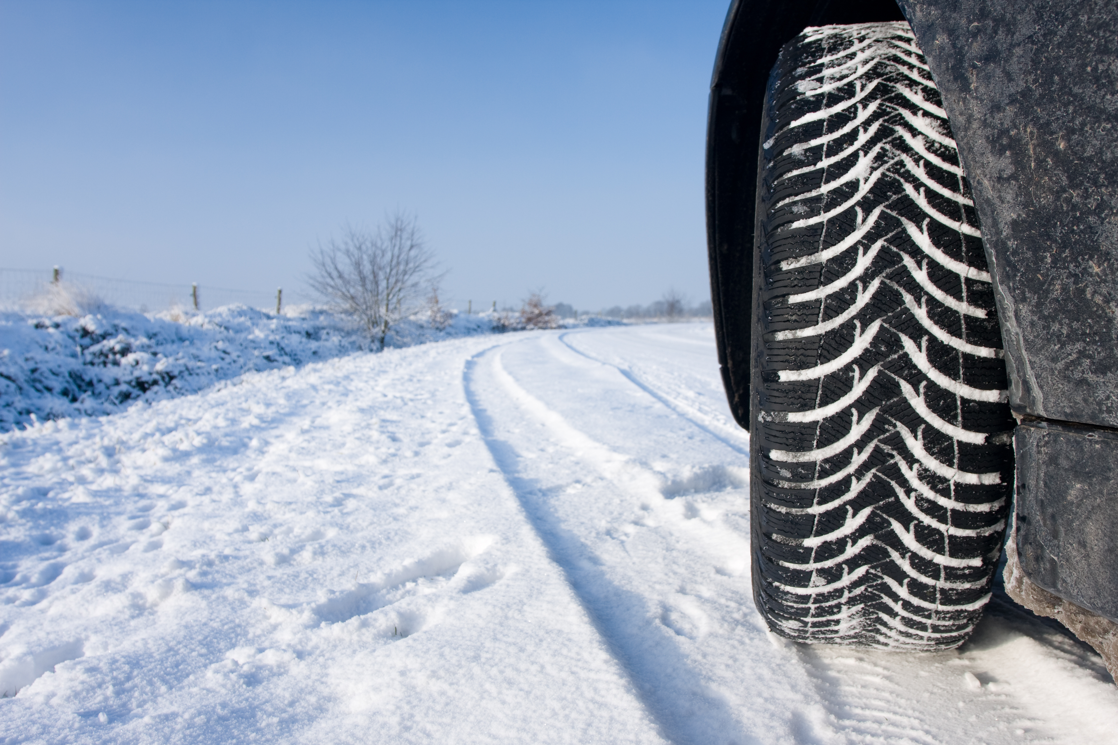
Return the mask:
[[[0,0],[0,267],[297,290],[416,214],[444,295],[709,296],[728,0]]]

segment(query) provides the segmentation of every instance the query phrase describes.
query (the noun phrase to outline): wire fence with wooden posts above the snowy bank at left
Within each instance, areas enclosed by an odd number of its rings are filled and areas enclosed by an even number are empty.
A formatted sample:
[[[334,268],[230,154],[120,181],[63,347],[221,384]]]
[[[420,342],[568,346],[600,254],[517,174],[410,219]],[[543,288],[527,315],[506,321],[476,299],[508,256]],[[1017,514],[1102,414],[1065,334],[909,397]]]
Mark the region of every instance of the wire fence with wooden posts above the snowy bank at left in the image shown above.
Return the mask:
[[[37,298],[47,295],[51,285],[63,285],[77,289],[96,303],[119,308],[158,313],[172,307],[209,311],[222,305],[240,303],[253,308],[275,312],[281,306],[310,303],[314,298],[302,293],[277,289],[259,292],[229,289],[183,283],[170,285],[154,281],[133,281],[98,277],[79,271],[59,269],[4,269],[0,268],[0,307],[26,308],[36,304]]]

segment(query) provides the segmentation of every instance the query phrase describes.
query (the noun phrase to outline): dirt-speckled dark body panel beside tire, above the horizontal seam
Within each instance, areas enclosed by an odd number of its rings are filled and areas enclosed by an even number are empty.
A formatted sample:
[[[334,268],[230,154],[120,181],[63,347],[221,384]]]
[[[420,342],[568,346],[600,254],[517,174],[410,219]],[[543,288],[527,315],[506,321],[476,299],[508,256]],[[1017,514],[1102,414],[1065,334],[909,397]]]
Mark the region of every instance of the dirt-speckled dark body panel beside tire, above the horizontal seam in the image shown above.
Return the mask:
[[[982,221],[1010,405],[1118,427],[1118,4],[902,6]]]

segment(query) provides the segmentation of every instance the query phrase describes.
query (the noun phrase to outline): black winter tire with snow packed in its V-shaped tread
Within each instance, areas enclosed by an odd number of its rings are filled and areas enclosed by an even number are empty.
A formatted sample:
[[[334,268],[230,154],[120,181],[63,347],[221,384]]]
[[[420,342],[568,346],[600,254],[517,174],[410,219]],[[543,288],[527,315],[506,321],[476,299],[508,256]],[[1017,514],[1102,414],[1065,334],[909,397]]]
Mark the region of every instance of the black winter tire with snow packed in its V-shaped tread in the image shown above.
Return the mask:
[[[757,608],[797,641],[957,647],[989,599],[1013,420],[977,217],[908,25],[806,29],[761,132]]]

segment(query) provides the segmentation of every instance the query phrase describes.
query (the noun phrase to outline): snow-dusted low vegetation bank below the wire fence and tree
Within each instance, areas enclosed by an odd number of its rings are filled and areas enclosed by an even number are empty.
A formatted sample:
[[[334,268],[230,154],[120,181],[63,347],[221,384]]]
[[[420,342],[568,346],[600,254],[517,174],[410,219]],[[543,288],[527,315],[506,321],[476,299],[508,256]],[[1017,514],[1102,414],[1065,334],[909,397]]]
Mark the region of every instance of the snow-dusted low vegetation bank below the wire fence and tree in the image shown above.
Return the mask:
[[[114,413],[136,402],[197,393],[247,372],[301,367],[369,347],[345,318],[311,306],[282,315],[244,305],[140,314],[60,299],[66,315],[0,313],[0,431]],[[434,321],[420,314],[398,322],[386,345],[508,326],[496,314],[444,312]]]

